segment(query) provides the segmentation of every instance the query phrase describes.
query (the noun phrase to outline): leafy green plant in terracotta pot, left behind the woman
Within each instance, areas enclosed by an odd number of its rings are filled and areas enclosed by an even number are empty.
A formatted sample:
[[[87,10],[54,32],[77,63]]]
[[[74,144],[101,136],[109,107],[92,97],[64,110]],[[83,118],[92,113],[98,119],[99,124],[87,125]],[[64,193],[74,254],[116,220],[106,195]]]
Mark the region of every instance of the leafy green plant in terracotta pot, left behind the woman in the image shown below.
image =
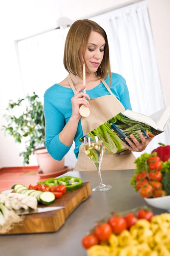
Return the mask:
[[[29,164],[29,157],[36,153],[37,161],[43,173],[57,172],[64,169],[64,158],[61,161],[54,160],[45,148],[45,117],[42,103],[38,100],[37,94],[26,96],[24,99],[12,100],[4,117],[7,125],[3,125],[4,133],[14,137],[16,143],[22,141],[26,144],[26,150],[20,153],[23,156],[23,163]],[[14,115],[14,109],[23,107],[24,111],[19,117]],[[16,114],[17,112],[15,112]]]

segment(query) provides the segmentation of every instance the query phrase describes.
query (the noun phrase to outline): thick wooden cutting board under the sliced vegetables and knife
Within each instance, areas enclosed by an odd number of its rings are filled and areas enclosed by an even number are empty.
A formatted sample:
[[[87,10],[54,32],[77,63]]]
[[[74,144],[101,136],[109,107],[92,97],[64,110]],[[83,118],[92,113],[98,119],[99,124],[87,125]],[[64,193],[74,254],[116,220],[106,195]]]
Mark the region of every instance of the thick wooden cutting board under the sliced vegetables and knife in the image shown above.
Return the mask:
[[[91,186],[89,182],[82,184],[82,187],[67,191],[54,204],[49,206],[65,206],[63,209],[51,212],[42,212],[25,215],[22,224],[15,226],[8,234],[26,234],[26,233],[48,233],[56,232],[65,223],[65,219],[77,208],[82,201],[85,201],[91,195]],[[42,206],[41,204],[38,207]]]

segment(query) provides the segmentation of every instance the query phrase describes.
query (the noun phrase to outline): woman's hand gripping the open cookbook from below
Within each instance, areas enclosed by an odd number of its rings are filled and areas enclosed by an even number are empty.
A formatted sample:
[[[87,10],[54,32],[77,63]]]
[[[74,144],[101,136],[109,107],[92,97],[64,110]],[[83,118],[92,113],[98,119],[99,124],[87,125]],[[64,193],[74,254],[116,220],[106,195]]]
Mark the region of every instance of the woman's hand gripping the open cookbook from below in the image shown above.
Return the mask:
[[[127,145],[125,142],[123,142],[123,145],[131,150],[131,151],[135,151],[135,152],[142,152],[146,146],[150,143],[150,141],[153,139],[152,138],[147,138],[147,140],[144,138],[144,136],[142,134],[139,134],[139,137],[141,139],[141,142],[139,142],[138,140],[136,140],[135,136],[133,136],[132,134],[130,134],[130,138],[133,140],[133,142],[131,142],[131,140],[129,140],[127,137],[125,138],[125,140],[129,143],[129,145]]]

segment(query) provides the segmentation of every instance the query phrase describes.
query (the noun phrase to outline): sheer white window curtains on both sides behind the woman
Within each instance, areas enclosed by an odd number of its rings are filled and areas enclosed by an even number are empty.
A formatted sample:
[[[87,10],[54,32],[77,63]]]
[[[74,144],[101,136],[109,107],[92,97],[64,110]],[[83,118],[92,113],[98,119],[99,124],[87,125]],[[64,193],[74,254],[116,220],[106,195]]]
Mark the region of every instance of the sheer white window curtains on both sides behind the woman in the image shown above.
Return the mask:
[[[92,17],[91,20],[99,23],[108,35],[111,70],[126,79],[133,111],[150,115],[163,108],[147,1]],[[63,66],[67,32],[68,29],[57,29],[18,42],[26,94],[35,91],[43,101],[45,90],[67,76]],[[168,131],[155,137],[145,151],[156,148],[158,142],[170,143]],[[73,150],[74,144],[65,156],[66,166],[74,167],[76,163]]]

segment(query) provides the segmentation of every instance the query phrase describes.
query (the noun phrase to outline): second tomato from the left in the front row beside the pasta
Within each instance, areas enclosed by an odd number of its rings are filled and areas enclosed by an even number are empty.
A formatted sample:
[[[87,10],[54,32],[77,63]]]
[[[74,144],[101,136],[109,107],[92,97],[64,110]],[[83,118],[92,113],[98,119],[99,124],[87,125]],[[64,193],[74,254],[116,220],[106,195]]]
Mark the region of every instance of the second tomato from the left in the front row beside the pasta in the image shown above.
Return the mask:
[[[98,227],[95,227],[94,233],[100,241],[106,241],[111,236],[112,229],[108,223],[104,223]]]

